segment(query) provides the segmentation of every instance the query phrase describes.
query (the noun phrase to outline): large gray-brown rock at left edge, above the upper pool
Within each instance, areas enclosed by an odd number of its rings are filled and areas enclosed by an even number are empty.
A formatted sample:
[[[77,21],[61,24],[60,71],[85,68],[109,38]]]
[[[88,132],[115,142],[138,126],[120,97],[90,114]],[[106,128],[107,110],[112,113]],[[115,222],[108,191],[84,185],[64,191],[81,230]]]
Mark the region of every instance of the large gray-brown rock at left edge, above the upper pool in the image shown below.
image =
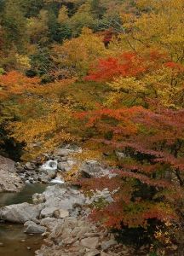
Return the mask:
[[[23,183],[16,173],[14,161],[0,156],[0,192],[18,192]]]

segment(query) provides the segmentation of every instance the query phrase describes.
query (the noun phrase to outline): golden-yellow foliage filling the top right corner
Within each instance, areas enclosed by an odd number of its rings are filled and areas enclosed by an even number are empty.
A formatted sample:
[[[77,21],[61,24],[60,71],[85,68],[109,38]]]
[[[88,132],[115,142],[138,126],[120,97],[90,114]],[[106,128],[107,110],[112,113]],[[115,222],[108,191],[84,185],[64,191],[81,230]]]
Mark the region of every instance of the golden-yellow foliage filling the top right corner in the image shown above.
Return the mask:
[[[139,15],[134,11],[121,15],[126,33],[119,44],[136,51],[152,47],[162,49],[169,53],[172,61],[181,62],[184,50],[183,0],[140,0],[136,1],[135,8]]]

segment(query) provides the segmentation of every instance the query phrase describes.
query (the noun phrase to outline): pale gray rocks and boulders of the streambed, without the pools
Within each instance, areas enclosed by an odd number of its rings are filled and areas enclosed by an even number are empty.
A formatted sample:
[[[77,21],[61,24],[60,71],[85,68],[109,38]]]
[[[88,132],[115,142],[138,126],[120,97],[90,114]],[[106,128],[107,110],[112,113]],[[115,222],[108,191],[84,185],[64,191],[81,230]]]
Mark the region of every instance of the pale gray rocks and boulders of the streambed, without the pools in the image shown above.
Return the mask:
[[[22,224],[25,234],[43,237],[43,245],[36,251],[37,256],[135,255],[133,247],[118,244],[109,230],[89,221],[91,204],[101,201],[101,198],[106,202],[112,201],[108,189],[93,191],[88,197],[83,191],[64,182],[63,174],[72,170],[78,162],[73,157],[74,153],[83,154],[82,148],[69,145],[57,148],[53,154],[45,155],[44,164],[39,160],[14,164],[2,158],[5,164],[1,170],[8,172],[8,176],[14,173],[17,177],[15,182],[9,180],[9,188],[3,185],[2,191],[18,191],[25,183],[52,185],[48,185],[43,193],[32,195],[32,202],[1,207],[1,221]],[[83,161],[78,172],[86,178],[112,177],[110,168],[97,160]],[[141,252],[141,255],[144,253]]]

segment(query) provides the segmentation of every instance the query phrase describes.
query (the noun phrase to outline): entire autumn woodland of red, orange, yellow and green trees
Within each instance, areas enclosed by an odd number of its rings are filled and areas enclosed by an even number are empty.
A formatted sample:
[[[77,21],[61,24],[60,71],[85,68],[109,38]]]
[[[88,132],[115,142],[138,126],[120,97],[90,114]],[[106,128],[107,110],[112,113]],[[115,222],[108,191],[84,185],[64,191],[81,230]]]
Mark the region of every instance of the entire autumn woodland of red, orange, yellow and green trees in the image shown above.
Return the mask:
[[[183,79],[183,0],[0,1],[1,154],[82,145],[117,174],[70,173],[118,189],[92,218],[158,255],[183,228]]]

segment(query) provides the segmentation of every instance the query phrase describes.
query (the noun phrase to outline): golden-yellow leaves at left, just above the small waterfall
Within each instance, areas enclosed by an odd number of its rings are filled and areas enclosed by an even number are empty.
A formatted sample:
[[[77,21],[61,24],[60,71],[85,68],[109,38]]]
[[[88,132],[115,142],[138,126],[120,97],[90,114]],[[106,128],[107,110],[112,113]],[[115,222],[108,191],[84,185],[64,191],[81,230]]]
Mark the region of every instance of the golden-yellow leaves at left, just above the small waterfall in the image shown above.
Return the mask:
[[[71,142],[71,112],[60,104],[53,103],[41,117],[29,118],[9,125],[14,137],[20,143],[26,143],[30,157],[51,151],[62,142]],[[24,157],[24,156],[23,156]]]

